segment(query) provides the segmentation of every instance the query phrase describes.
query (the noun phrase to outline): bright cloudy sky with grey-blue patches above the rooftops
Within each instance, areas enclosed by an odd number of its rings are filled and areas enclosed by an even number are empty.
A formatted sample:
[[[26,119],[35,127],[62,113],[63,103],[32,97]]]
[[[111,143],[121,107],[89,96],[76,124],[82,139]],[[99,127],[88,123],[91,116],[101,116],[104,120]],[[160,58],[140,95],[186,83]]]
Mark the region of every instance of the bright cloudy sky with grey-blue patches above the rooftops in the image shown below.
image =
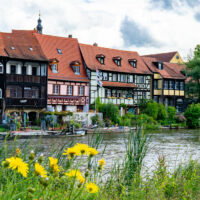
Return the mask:
[[[178,51],[184,60],[200,43],[200,0],[1,0],[0,31],[32,30],[80,43],[137,51]]]

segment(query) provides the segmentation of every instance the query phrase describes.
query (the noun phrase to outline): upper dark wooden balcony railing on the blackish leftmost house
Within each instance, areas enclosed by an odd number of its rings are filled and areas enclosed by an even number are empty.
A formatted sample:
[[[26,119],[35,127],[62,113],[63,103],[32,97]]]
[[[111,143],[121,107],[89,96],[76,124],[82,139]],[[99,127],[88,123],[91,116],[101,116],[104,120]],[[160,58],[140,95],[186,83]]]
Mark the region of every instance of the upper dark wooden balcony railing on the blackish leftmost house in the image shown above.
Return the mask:
[[[32,76],[32,75],[19,75],[19,74],[7,74],[6,82],[16,82],[16,83],[46,83],[46,77]]]

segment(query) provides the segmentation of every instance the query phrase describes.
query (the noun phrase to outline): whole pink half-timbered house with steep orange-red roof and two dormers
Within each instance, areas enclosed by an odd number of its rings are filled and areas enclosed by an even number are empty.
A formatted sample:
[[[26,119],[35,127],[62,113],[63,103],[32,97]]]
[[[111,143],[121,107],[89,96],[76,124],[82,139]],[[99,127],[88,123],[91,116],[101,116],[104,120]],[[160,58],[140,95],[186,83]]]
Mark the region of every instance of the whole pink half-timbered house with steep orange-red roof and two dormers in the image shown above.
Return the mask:
[[[83,67],[77,39],[38,33],[36,38],[50,60],[47,110],[88,112],[89,79]]]

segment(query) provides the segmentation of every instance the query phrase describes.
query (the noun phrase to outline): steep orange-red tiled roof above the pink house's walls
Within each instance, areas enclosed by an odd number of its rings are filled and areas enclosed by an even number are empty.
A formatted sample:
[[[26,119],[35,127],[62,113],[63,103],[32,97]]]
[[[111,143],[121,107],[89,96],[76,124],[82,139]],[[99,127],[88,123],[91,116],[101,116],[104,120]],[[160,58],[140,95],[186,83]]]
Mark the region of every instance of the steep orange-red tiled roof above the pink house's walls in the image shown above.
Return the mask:
[[[57,59],[59,61],[58,73],[53,73],[50,67],[48,68],[49,79],[89,82],[83,66],[77,39],[38,33],[35,33],[35,36],[47,58],[49,60]],[[59,54],[57,49],[60,49],[62,54]],[[70,63],[73,61],[80,62],[80,75],[76,75],[73,72],[72,67],[70,66]]]

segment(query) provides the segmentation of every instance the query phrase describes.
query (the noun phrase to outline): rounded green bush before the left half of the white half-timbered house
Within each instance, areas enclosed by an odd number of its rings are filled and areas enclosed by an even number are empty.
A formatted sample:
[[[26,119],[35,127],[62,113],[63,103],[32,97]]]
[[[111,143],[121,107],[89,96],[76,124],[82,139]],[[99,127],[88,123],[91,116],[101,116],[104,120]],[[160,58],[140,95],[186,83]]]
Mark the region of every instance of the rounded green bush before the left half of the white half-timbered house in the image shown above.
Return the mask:
[[[114,123],[118,123],[119,107],[113,103],[101,104],[99,112],[103,113],[104,119],[109,119]]]

